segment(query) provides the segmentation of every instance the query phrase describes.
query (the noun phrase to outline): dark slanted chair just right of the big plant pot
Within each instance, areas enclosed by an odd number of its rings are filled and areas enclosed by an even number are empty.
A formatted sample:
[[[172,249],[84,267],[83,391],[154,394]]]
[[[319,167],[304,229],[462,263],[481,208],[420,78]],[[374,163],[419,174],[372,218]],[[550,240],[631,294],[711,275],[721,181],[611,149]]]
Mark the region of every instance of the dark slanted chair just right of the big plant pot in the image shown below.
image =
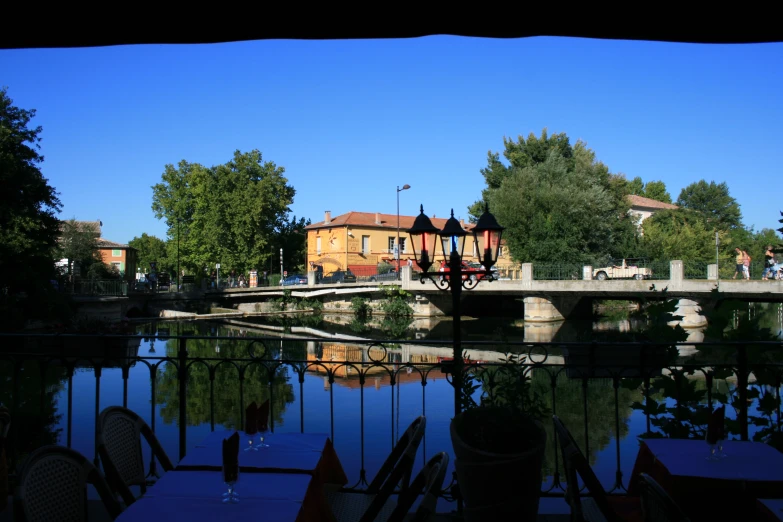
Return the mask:
[[[563,455],[563,468],[566,475],[565,496],[566,502],[571,507],[572,519],[578,522],[584,520],[578,480],[578,477],[581,476],[585,487],[590,492],[606,520],[608,522],[617,520],[617,515],[609,505],[609,499],[603,486],[601,486],[601,481],[598,480],[598,477],[593,472],[593,468],[590,467],[590,463],[579,449],[579,446],[577,446],[571,432],[568,431],[557,415],[552,415],[552,421],[555,425],[557,440],[560,443],[560,451]]]

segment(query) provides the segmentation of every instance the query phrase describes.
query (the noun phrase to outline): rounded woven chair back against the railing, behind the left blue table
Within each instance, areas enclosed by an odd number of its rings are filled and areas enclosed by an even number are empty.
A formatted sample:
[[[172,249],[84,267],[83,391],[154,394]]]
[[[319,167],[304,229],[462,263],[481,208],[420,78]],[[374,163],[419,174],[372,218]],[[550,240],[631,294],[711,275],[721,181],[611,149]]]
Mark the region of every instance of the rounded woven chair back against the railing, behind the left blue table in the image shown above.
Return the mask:
[[[126,506],[136,501],[130,486],[139,486],[142,495],[147,491],[147,478],[141,453],[141,436],[147,440],[152,453],[165,471],[174,469],[168,455],[144,419],[122,406],[109,406],[98,419],[98,454],[112,490],[118,493]]]

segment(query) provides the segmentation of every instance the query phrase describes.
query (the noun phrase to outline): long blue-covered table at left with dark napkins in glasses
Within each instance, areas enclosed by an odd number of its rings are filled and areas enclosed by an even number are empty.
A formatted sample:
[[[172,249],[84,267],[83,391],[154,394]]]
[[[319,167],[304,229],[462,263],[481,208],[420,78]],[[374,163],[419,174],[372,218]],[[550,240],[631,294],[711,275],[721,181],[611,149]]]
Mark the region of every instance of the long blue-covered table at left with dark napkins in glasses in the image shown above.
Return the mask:
[[[119,522],[149,520],[331,521],[326,485],[343,486],[347,477],[331,440],[323,434],[275,434],[269,447],[239,450],[238,504],[223,504],[222,441],[233,430],[210,433],[188,452],[174,471],[161,477]],[[244,444],[248,436],[239,432]],[[258,436],[254,436],[254,442]]]

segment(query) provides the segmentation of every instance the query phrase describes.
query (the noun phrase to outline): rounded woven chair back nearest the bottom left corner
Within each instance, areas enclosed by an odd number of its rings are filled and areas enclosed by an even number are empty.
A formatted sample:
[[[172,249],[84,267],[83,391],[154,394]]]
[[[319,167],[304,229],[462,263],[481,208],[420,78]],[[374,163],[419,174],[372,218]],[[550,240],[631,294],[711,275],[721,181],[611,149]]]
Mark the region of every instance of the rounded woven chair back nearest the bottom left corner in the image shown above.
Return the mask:
[[[62,446],[38,448],[19,472],[16,522],[87,520],[87,484],[95,486],[112,520],[122,511],[106,479],[80,453]]]

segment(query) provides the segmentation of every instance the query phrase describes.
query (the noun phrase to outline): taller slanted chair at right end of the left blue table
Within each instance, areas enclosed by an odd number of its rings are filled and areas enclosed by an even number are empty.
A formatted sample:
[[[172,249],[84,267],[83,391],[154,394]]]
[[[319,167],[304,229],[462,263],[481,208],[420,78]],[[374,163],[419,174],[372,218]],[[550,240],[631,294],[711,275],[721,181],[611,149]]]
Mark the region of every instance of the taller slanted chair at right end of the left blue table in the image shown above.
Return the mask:
[[[341,489],[326,493],[337,520],[374,520],[381,513],[391,514],[394,504],[388,501],[398,484],[401,484],[401,492],[407,491],[426,425],[426,419],[420,416],[408,426],[365,491]],[[372,513],[374,515],[367,518]]]

